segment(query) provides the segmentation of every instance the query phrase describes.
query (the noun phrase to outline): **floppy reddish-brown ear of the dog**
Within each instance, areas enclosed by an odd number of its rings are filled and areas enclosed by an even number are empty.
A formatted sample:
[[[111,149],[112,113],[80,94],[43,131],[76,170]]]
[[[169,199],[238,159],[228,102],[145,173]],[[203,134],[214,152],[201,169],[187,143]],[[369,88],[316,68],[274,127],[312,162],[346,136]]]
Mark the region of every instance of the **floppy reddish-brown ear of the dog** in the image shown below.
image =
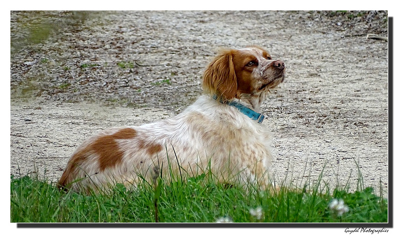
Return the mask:
[[[204,73],[203,88],[218,100],[228,101],[237,93],[237,77],[233,65],[233,51],[223,50],[217,55]]]

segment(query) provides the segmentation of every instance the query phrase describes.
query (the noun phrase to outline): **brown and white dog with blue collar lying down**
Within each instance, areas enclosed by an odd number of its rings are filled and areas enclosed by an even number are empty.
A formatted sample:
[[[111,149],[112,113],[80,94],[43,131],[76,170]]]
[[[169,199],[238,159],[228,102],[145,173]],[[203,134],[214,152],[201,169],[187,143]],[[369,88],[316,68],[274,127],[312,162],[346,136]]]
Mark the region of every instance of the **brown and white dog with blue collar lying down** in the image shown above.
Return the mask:
[[[259,108],[283,82],[284,71],[284,62],[261,47],[222,49],[204,72],[204,94],[192,105],[159,122],[88,138],[69,159],[58,188],[99,192],[206,170],[225,184],[273,186],[270,134]]]

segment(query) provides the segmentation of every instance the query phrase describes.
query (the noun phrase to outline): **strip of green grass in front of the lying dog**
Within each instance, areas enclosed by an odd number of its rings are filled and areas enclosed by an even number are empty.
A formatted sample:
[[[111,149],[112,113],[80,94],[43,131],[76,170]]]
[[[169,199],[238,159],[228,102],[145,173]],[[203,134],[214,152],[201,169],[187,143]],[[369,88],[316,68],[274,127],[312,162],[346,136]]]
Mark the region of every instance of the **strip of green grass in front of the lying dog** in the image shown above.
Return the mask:
[[[167,182],[159,177],[133,190],[118,184],[108,195],[83,195],[60,192],[38,177],[12,176],[11,222],[387,222],[387,201],[372,188],[274,194],[256,185],[219,184],[210,173]],[[331,211],[333,198],[349,211]],[[250,213],[255,209],[261,217]]]

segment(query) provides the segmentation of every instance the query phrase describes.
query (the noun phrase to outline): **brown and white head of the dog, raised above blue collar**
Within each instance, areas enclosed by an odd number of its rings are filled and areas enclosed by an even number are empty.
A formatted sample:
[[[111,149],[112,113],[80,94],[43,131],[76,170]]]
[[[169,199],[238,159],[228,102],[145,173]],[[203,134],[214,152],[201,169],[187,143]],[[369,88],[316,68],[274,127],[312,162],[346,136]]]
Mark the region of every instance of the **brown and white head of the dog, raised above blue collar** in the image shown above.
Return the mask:
[[[203,87],[206,93],[226,101],[274,88],[284,79],[285,64],[272,59],[263,48],[251,46],[222,50],[207,67]]]

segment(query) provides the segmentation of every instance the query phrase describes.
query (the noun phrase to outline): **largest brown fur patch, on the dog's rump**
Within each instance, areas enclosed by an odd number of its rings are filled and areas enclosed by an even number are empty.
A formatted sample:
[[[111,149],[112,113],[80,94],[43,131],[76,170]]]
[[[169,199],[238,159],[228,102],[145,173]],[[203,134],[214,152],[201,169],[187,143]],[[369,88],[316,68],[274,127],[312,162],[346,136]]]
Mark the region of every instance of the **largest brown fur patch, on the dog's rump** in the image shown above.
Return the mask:
[[[66,186],[73,182],[80,170],[80,166],[92,154],[97,154],[100,171],[108,167],[114,167],[121,163],[123,152],[119,150],[116,140],[131,139],[137,132],[131,128],[122,129],[115,134],[98,137],[94,142],[75,152],[67,163],[66,169],[58,182],[59,189],[66,189]]]

